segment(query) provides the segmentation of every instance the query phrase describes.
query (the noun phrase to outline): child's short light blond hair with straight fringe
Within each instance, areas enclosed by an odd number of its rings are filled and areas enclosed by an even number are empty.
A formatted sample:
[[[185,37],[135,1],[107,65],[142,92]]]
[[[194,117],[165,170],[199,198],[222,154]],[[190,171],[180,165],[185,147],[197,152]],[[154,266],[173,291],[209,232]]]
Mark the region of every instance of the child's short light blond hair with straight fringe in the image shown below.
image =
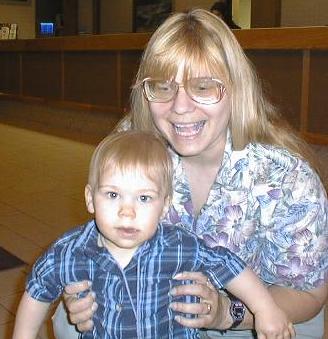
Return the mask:
[[[88,184],[94,190],[104,171],[143,173],[165,197],[172,195],[172,161],[162,140],[150,132],[125,131],[103,139],[95,149]]]

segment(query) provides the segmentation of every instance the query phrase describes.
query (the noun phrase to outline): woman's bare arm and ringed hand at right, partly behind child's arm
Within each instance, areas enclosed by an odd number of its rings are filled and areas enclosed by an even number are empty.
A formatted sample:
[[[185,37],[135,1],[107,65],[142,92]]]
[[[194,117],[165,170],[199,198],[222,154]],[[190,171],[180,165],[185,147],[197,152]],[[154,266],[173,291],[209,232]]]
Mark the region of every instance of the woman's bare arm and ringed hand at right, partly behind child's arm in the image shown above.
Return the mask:
[[[171,292],[174,295],[196,295],[201,300],[211,301],[211,311],[208,313],[205,303],[184,304],[173,303],[172,309],[182,313],[199,314],[195,319],[178,317],[177,321],[188,327],[204,327],[218,330],[230,328],[232,318],[230,316],[230,299],[226,295],[217,293],[213,286],[207,284],[207,278],[198,272],[184,272],[179,274],[178,280],[193,280],[195,284],[176,286]],[[328,286],[299,291],[287,287],[271,286],[269,289],[275,303],[285,312],[293,323],[299,323],[313,318],[325,305]],[[306,307],[300,307],[306,305]],[[254,329],[254,317],[246,310],[244,321],[238,329]]]

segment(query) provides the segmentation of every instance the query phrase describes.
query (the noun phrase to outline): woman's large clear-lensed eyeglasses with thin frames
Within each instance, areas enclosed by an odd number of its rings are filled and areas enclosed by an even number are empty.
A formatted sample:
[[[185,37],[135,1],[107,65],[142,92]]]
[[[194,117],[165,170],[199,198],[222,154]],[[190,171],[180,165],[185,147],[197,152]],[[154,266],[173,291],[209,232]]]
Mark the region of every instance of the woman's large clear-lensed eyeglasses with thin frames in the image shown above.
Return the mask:
[[[225,87],[220,80],[208,77],[191,78],[184,85],[178,84],[174,80],[151,78],[146,78],[141,83],[147,100],[159,103],[173,100],[180,87],[185,88],[192,100],[205,105],[218,103],[225,92]]]

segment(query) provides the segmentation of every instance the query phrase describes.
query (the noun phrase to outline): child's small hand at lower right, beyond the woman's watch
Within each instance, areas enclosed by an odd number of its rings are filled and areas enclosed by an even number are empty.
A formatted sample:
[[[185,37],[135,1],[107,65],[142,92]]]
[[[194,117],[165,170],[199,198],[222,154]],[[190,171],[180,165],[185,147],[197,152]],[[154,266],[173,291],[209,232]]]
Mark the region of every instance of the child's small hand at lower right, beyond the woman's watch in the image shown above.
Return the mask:
[[[255,329],[258,339],[295,338],[293,324],[278,307],[255,314]]]

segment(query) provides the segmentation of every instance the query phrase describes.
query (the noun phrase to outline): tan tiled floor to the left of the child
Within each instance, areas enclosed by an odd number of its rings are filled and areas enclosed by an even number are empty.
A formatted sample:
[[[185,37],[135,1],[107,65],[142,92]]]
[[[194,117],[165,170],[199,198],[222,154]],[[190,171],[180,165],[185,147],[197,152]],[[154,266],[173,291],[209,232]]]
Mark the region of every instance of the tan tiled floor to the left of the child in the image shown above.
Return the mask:
[[[31,264],[59,234],[89,217],[83,190],[93,149],[0,124],[0,246]],[[0,272],[0,339],[11,338],[27,272]],[[49,332],[44,326],[39,339],[52,338]]]

